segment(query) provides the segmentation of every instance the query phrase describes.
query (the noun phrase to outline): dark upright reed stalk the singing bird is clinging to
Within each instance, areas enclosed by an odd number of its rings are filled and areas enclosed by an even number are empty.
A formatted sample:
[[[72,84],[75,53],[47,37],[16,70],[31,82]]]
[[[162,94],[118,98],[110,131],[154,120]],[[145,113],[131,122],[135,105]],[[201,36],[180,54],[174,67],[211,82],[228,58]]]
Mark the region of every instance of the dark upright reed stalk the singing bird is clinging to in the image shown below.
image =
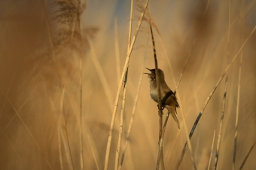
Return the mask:
[[[158,115],[159,115],[159,139],[158,139],[159,152],[158,152],[158,157],[157,157],[157,167],[156,167],[156,169],[158,170],[160,161],[161,161],[162,169],[165,169],[164,161],[163,161],[163,142],[162,142],[162,144],[160,144],[160,141],[161,141],[161,138],[162,138],[162,132],[163,132],[163,111],[162,111],[162,99],[161,99],[161,92],[160,92],[161,87],[160,87],[160,80],[159,80],[159,71],[158,71],[158,65],[157,65],[157,51],[156,51],[156,47],[155,47],[155,44],[154,44],[154,35],[153,35],[153,30],[152,30],[151,24],[150,24],[150,29],[151,29],[151,38],[152,38],[152,44],[153,44],[153,51],[154,51],[154,66],[156,68],[156,77],[157,77]]]

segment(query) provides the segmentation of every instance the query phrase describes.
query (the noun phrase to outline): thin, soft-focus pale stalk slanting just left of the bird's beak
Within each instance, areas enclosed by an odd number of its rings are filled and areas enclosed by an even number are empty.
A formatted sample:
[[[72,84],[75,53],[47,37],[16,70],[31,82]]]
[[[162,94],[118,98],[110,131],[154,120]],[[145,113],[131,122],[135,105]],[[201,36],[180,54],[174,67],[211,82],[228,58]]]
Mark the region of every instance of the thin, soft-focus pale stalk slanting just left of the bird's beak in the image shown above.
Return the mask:
[[[137,106],[138,99],[139,99],[139,92],[140,92],[141,87],[142,87],[141,86],[142,85],[142,76],[143,76],[143,70],[144,70],[144,66],[145,66],[145,58],[146,58],[146,55],[147,55],[147,47],[148,47],[148,37],[147,37],[146,49],[145,49],[144,59],[143,59],[143,64],[142,64],[142,71],[141,71],[141,75],[139,77],[139,85],[138,85],[136,97],[135,97],[134,103],[133,103],[132,116],[130,118],[130,123],[129,123],[129,126],[128,126],[127,135],[126,135],[126,141],[125,141],[125,144],[123,146],[123,153],[122,153],[122,156],[121,156],[121,161],[120,161],[120,165],[118,167],[118,170],[121,170],[122,165],[123,165],[123,159],[124,159],[124,156],[125,156],[125,153],[126,153],[126,147],[128,145],[128,142],[129,142],[130,132],[131,132],[131,129],[132,129],[132,126],[133,126],[134,116],[136,114],[136,106]]]

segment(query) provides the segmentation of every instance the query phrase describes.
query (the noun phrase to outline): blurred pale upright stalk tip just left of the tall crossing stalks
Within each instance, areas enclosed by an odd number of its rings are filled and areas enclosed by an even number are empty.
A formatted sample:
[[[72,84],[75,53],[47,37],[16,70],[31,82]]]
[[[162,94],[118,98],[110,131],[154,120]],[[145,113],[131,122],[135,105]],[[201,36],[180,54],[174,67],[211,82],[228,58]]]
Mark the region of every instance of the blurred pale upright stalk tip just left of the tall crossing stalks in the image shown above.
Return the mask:
[[[115,50],[115,67],[117,70],[117,84],[118,84],[121,77],[121,73],[120,73],[121,71],[120,71],[120,51],[119,51],[119,41],[118,41],[117,18],[114,19],[114,50]]]

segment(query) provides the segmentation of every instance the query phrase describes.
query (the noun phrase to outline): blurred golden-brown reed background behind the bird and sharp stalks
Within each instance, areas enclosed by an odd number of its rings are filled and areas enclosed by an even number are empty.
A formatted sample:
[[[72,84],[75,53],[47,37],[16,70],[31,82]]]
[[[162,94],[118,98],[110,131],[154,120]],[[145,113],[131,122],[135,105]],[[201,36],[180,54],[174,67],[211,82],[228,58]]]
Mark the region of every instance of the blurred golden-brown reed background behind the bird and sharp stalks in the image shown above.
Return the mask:
[[[145,4],[134,2],[132,38],[141,14],[139,3]],[[227,62],[256,25],[255,1],[231,1],[229,5],[229,1],[161,0],[151,1],[148,8],[154,21],[158,67],[172,90],[176,86],[173,80],[178,81],[190,56],[178,87],[178,102],[190,132]],[[103,169],[114,99],[126,59],[129,17],[130,1],[0,2],[1,169]],[[148,28],[143,21],[130,58],[121,148],[142,68],[154,68]],[[218,169],[232,168],[237,105],[235,169],[256,139],[255,41],[256,33],[228,71]],[[214,166],[224,81],[225,77],[191,139],[197,169],[207,169],[216,131],[210,169]],[[159,116],[145,74],[141,87],[122,169],[154,169],[157,162]],[[108,169],[114,169],[122,99],[120,96]],[[163,140],[166,169],[175,168],[187,140],[181,109],[177,111],[181,129],[170,118]],[[254,148],[243,169],[256,167],[255,156]],[[179,169],[193,169],[188,149]]]

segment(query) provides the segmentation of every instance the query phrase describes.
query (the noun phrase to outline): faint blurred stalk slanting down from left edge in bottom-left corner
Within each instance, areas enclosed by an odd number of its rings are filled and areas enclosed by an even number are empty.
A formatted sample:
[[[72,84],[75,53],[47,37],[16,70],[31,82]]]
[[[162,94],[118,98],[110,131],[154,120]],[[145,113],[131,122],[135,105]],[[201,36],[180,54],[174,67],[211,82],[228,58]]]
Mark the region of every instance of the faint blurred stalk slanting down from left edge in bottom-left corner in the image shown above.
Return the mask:
[[[1,89],[2,90],[2,89]],[[30,132],[28,126],[26,126],[26,123],[23,121],[23,119],[20,117],[19,112],[16,110],[16,108],[14,107],[14,105],[12,104],[12,102],[10,101],[10,99],[8,98],[8,96],[5,94],[5,92],[2,90],[2,93],[4,93],[6,99],[8,99],[8,102],[10,103],[11,107],[14,109],[15,114],[17,114],[17,116],[20,118],[21,123],[23,123],[23,126],[25,126],[27,132],[29,133],[29,135],[31,136],[31,138],[33,139],[33,141],[35,142],[36,147],[38,147],[38,150],[41,152],[41,154],[44,156],[45,161],[47,162],[47,165],[49,166],[50,169],[53,169],[53,167],[50,165],[50,162],[48,161],[47,157],[45,156],[43,150],[41,150],[41,147],[39,147],[38,142],[35,140],[34,135],[32,135],[32,133]]]

